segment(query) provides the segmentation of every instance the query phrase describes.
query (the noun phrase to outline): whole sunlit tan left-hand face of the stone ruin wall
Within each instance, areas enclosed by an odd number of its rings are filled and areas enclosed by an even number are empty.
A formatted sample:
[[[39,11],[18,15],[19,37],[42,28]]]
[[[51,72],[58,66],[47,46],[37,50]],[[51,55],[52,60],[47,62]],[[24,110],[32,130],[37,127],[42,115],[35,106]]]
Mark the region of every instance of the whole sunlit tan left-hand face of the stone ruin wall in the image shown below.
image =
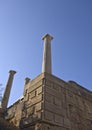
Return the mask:
[[[35,127],[41,120],[42,113],[42,84],[43,74],[27,83],[24,87],[24,96],[7,110],[6,119],[21,129]]]

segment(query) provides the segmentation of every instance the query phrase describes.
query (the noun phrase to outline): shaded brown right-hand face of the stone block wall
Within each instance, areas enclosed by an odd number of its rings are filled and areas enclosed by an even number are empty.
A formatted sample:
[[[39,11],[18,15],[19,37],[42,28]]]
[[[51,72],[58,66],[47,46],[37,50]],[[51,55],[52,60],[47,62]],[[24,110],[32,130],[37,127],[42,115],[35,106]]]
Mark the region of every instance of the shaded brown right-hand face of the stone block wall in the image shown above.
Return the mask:
[[[43,115],[46,130],[91,130],[92,92],[46,74]]]

